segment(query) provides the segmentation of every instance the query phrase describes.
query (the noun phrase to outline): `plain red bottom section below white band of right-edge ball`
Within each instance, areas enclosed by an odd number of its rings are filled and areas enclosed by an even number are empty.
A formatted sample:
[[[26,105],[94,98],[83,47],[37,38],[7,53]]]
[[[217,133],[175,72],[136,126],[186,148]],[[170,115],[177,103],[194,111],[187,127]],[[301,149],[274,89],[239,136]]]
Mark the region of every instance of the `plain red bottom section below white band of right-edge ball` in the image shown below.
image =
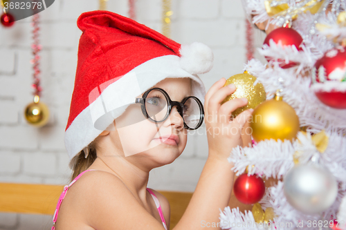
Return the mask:
[[[320,102],[332,108],[346,108],[346,92],[315,92]]]

